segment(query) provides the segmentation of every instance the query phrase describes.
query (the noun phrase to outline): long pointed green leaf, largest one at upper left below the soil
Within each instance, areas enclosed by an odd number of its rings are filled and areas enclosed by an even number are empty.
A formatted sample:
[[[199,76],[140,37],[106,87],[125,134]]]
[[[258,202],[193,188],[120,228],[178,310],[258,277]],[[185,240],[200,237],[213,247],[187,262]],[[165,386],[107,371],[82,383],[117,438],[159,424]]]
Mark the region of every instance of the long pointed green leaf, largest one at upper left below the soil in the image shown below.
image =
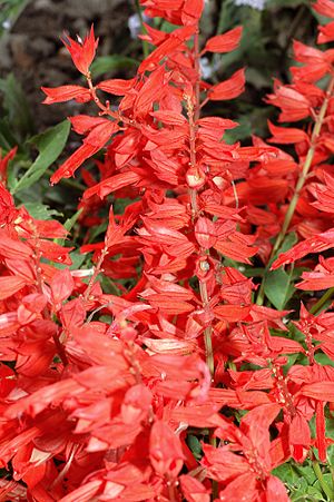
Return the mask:
[[[29,142],[36,144],[39,156],[12,189],[12,194],[26,189],[38,181],[45,171],[59,157],[70,131],[69,120],[63,120],[46,132],[35,136]]]

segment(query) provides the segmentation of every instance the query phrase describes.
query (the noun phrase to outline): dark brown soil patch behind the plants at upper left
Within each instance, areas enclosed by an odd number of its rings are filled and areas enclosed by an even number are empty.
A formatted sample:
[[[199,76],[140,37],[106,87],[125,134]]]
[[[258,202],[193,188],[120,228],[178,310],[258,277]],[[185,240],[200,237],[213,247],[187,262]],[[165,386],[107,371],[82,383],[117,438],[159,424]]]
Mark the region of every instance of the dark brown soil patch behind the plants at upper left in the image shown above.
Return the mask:
[[[98,56],[117,53],[136,57],[139,45],[131,40],[128,29],[128,19],[134,12],[135,3],[128,0],[28,2],[10,31],[0,39],[0,77],[13,72],[20,81],[37,130],[45,130],[66,116],[82,112],[82,109],[87,111],[87,105],[72,101],[41,105],[45,97],[41,86],[82,83],[80,73],[60,40],[62,32],[69,32],[72,38],[76,35],[82,38],[94,23],[100,38]],[[121,76],[126,76],[124,71]],[[108,78],[111,77],[115,75],[108,75]]]

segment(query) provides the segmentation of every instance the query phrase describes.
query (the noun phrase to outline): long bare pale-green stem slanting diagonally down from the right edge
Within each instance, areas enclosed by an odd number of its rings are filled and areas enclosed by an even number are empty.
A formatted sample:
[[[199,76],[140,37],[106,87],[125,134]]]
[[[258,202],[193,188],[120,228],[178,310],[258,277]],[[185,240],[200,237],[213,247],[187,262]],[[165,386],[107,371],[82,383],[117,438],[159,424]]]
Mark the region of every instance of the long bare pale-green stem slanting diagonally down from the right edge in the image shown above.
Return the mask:
[[[321,129],[322,129],[322,126],[323,126],[323,122],[324,122],[324,119],[325,119],[325,115],[326,115],[326,111],[327,111],[327,108],[328,108],[330,98],[331,98],[332,92],[333,92],[333,87],[334,87],[334,77],[332,77],[331,80],[330,80],[325,99],[323,101],[323,105],[322,105],[322,107],[320,109],[320,112],[318,112],[318,116],[316,118],[316,121],[314,124],[314,128],[313,128],[312,136],[311,136],[311,141],[310,141],[310,148],[308,148],[308,151],[307,151],[307,155],[306,155],[306,158],[305,158],[305,161],[304,161],[303,169],[301,171],[299,178],[297,180],[295,193],[293,195],[293,198],[291,199],[289,206],[288,206],[287,211],[285,214],[285,218],[284,218],[284,222],[283,222],[282,229],[281,229],[279,234],[276,237],[276,240],[275,240],[275,244],[274,244],[271,257],[269,257],[267,266],[265,268],[264,279],[263,279],[263,282],[261,284],[261,287],[259,287],[259,291],[258,291],[258,295],[257,295],[257,301],[256,301],[257,305],[263,305],[263,303],[264,303],[264,298],[265,298],[264,284],[265,284],[266,275],[267,275],[267,273],[269,270],[269,267],[272,265],[272,260],[273,260],[274,256],[276,255],[277,250],[279,249],[279,246],[283,243],[284,237],[285,237],[285,235],[287,233],[287,229],[289,227],[292,218],[293,218],[293,216],[295,214],[295,209],[296,209],[297,203],[299,200],[301,191],[302,191],[302,189],[304,187],[304,184],[306,181],[308,171],[311,169],[311,166],[312,166],[312,163],[313,163],[313,158],[314,158],[314,154],[315,154],[315,149],[316,149],[316,145],[317,145],[317,139],[320,137]]]

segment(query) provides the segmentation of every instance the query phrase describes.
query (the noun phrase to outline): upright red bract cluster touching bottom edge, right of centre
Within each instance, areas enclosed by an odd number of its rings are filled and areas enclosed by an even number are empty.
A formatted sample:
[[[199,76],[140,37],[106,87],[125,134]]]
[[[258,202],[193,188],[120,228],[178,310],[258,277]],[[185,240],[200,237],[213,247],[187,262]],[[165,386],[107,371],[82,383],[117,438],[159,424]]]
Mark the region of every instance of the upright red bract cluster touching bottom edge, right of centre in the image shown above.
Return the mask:
[[[275,404],[258,406],[247,413],[239,429],[232,424],[218,429],[218,437],[228,444],[220,449],[204,446],[203,462],[209,478],[227,484],[220,491],[219,500],[237,501],[248,498],[269,501],[275,498],[282,502],[288,501],[284,484],[271,475],[278,459],[271,451],[268,425],[277,412]]]

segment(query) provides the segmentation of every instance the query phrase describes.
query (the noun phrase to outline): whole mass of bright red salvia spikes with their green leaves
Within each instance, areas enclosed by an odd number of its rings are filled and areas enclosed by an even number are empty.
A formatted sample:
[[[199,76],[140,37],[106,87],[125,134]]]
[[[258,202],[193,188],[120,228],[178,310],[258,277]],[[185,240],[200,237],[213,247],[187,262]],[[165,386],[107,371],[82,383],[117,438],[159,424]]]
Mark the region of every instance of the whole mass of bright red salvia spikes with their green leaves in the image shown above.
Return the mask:
[[[248,146],[210,114],[245,89],[235,4],[208,39],[203,0],[140,4],[160,24],[137,73],[95,81],[94,29],[66,36],[85,83],[45,104],[97,114],[24,126],[0,160],[1,498],[331,501],[334,2],[313,6],[324,48],[295,41],[265,98],[279,126]],[[82,142],[51,183],[80,169],[85,191],[61,225],[26,195],[70,125]]]

